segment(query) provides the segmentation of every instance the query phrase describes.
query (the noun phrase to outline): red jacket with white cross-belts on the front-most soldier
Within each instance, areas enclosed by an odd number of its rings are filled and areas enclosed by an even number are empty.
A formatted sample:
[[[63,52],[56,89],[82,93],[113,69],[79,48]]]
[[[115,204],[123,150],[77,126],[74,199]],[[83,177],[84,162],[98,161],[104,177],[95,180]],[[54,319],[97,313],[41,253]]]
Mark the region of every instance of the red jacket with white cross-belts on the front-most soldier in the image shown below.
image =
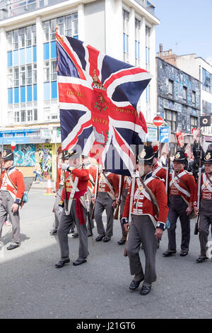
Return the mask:
[[[162,223],[163,226],[165,226],[168,214],[167,194],[165,191],[165,185],[163,181],[152,176],[151,172],[148,175],[146,175],[146,180],[144,181],[144,183],[148,188],[151,189],[158,202],[158,210],[159,210],[158,217],[156,216],[156,212],[153,210],[153,203],[151,202],[151,198],[148,195],[146,189],[143,188],[140,178],[136,178],[136,184],[134,189],[134,201],[131,209],[131,214],[149,215],[155,226],[157,225],[157,222],[159,225],[160,223]],[[124,205],[124,213],[122,215],[122,218],[129,218],[130,196],[131,196],[131,186],[129,188],[129,192],[126,197]]]

